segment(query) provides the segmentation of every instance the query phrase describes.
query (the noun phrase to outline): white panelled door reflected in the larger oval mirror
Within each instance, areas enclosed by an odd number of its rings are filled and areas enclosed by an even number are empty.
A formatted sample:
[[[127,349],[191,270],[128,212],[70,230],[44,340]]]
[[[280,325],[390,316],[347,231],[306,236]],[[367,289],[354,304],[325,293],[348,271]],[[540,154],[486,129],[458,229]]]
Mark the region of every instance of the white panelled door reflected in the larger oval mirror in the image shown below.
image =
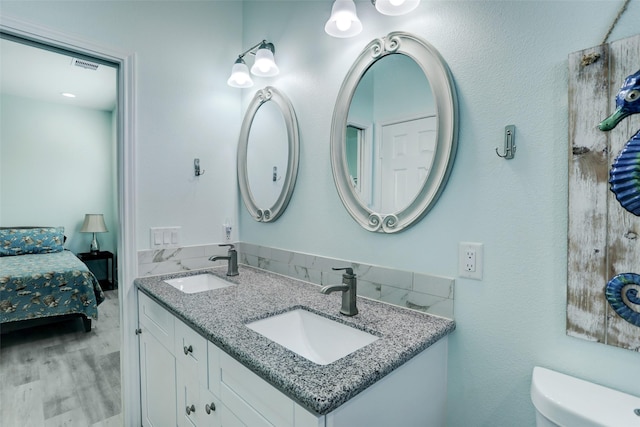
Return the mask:
[[[436,145],[435,116],[382,125],[380,212],[406,208],[429,175]]]

